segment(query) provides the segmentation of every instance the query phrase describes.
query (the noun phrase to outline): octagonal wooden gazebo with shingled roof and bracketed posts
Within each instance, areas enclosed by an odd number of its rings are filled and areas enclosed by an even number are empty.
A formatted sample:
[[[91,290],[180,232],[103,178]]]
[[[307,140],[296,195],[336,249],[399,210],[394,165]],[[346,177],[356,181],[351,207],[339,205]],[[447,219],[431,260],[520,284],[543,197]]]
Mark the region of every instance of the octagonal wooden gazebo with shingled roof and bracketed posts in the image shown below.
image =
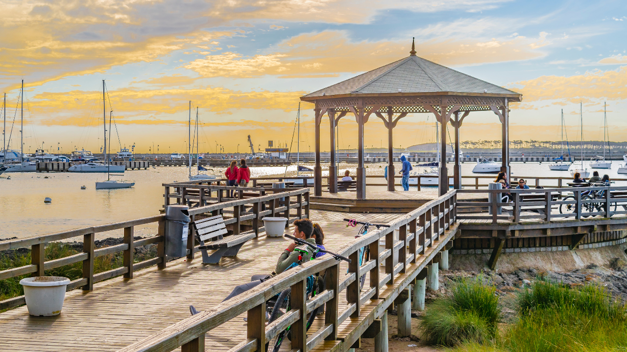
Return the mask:
[[[366,199],[366,168],[364,168],[364,125],[371,115],[385,124],[388,137],[387,190],[394,190],[393,129],[408,113],[433,113],[441,123],[440,194],[448,190],[446,170],[446,124],[455,128],[454,185],[460,188],[460,127],[470,111],[494,111],[502,123],[501,170],[509,174],[508,106],[520,101],[522,95],[492,83],[478,80],[459,71],[416,56],[414,43],[409,56],[375,70],[355,76],[327,88],[301,96],[315,104],[315,168],[314,194],[322,195],[320,166],[320,122],[326,114],[330,120],[331,164],[329,192],[337,192],[335,165],[335,125],[340,118],[352,113],[357,120],[358,161],[357,199]]]

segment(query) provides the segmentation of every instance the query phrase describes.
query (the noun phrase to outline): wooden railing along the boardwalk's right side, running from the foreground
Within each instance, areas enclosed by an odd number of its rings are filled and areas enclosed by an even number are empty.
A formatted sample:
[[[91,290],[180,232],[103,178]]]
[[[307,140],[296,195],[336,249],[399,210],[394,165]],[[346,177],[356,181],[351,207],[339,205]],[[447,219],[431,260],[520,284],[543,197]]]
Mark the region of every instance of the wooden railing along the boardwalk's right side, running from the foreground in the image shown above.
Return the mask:
[[[230,352],[263,350],[266,341],[270,341],[287,326],[292,329],[292,345],[287,350],[307,352],[324,340],[337,341],[340,324],[349,318],[364,318],[366,316],[366,313],[362,314],[364,304],[380,299],[380,292],[386,288],[384,286],[399,286],[385,300],[379,301],[375,309],[381,313],[379,310],[386,309],[399,292],[418,275],[425,263],[442,249],[445,242],[448,242],[440,241],[448,240],[447,237],[443,237],[445,231],[456,229],[455,204],[456,191],[451,190],[446,195],[395,220],[390,224],[391,227],[374,230],[350,241],[337,250],[338,254],[351,259],[347,274],[340,271],[340,263],[333,257],[323,256],[283,272],[250,291],[173,324],[120,351],[173,351],[179,347],[182,347],[182,351],[204,351],[204,336],[208,331],[243,313],[248,316],[247,336],[244,341],[231,348]],[[396,242],[394,230],[399,230],[399,239]],[[449,237],[451,233],[448,232]],[[381,238],[386,239],[386,249],[379,252]],[[437,246],[433,248],[434,251],[426,251],[434,244]],[[369,246],[371,259],[359,266],[357,259],[359,249],[365,246]],[[398,264],[394,264],[396,258]],[[381,263],[385,263],[382,277],[379,272]],[[322,271],[325,271],[326,289],[314,299],[307,301],[305,294],[307,277]],[[366,273],[370,284],[361,290],[359,278]],[[403,280],[395,280],[399,273],[408,273],[408,276]],[[292,289],[292,310],[266,326],[266,300],[288,287]],[[340,306],[340,294],[347,302],[345,306]],[[305,329],[307,313],[322,304],[326,304],[324,325],[318,331],[310,331],[307,334]],[[368,325],[369,323],[365,327]],[[339,350],[345,351],[350,348],[356,338],[359,338],[359,335],[345,338]]]

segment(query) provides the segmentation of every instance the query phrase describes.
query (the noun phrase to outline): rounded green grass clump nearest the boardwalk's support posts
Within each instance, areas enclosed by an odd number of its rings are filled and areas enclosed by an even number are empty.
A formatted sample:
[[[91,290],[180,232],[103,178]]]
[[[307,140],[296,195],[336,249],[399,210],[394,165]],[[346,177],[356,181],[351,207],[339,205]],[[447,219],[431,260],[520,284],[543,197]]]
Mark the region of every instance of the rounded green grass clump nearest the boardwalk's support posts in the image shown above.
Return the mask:
[[[436,301],[426,310],[421,326],[428,343],[456,346],[492,339],[499,318],[495,287],[480,277],[453,284],[450,297]]]

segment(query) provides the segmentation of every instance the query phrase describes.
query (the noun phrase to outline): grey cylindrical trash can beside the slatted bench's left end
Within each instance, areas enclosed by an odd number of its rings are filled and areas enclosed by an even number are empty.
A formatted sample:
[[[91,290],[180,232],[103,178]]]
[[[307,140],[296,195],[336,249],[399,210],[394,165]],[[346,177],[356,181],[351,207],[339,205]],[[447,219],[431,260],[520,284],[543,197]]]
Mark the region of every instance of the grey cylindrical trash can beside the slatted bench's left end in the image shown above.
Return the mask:
[[[187,255],[189,232],[189,207],[168,205],[166,207],[166,256],[184,257]]]

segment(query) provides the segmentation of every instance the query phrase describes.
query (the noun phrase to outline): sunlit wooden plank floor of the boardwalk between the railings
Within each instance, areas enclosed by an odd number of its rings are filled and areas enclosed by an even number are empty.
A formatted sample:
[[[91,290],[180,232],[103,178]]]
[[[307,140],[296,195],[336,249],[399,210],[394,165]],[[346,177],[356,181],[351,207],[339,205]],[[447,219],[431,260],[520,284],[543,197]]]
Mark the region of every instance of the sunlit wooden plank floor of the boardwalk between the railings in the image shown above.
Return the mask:
[[[359,229],[346,227],[344,218],[389,222],[401,215],[311,212],[312,220],[324,229],[330,250],[352,240]],[[188,318],[190,304],[199,310],[210,308],[234,286],[250,281],[251,275],[271,272],[287,244],[282,238],[261,236],[246,243],[238,257],[226,257],[219,266],[205,266],[198,257],[191,262],[178,259],[168,262],[164,270],[152,266],[136,271],[130,280],[115,277],[97,283],[92,292],[69,291],[59,316],[31,317],[25,306],[7,311],[0,314],[0,350],[116,351]],[[370,305],[376,306],[374,301]],[[228,350],[245,339],[243,316],[209,331],[207,349]],[[340,331],[350,331],[346,328],[350,321]]]

